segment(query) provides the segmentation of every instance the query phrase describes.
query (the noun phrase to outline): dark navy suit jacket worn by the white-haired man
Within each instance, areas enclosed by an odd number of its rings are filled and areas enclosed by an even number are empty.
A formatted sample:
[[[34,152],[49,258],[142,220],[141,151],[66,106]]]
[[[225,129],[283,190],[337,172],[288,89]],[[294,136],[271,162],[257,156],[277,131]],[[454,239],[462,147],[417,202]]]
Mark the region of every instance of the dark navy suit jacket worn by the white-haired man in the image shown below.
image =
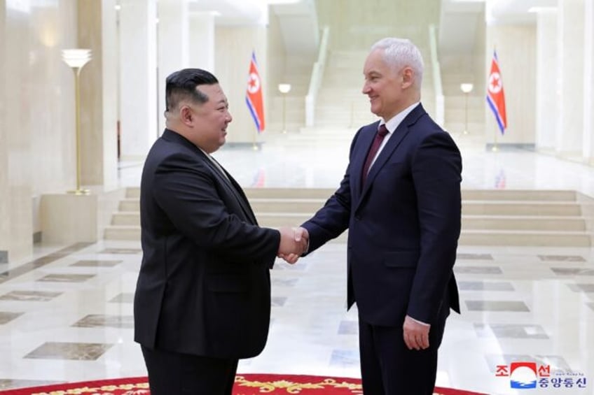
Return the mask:
[[[460,236],[462,159],[421,105],[396,128],[361,185],[379,122],[357,131],[340,187],[303,224],[310,251],[349,229],[348,307],[370,324],[406,314],[434,323],[442,303],[460,312],[453,275]]]

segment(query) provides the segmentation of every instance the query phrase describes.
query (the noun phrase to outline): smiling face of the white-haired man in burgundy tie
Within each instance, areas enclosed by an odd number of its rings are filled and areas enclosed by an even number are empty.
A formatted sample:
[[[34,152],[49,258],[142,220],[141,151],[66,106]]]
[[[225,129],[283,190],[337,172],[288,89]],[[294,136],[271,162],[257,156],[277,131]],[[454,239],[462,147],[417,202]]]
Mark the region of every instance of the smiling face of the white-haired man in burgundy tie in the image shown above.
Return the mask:
[[[415,102],[411,94],[412,69],[387,64],[382,49],[371,51],[365,61],[363,73],[365,83],[362,92],[369,97],[371,112],[385,121]]]

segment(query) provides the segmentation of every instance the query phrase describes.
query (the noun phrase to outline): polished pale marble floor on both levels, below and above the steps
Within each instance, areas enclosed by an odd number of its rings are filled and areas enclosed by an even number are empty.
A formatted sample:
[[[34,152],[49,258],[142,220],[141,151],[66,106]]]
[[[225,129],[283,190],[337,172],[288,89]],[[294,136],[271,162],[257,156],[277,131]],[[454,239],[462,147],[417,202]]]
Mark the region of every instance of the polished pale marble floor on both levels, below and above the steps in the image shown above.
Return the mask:
[[[232,128],[230,128],[232,129]],[[354,131],[276,135],[261,149],[214,155],[244,186],[336,187]],[[576,189],[594,196],[590,166],[521,150],[487,151],[455,136],[468,189]],[[259,142],[259,140],[258,140]],[[123,163],[136,186],[141,164]],[[357,312],[345,311],[345,245],[331,243],[272,270],[272,323],[261,355],[240,373],[359,377]],[[139,242],[37,245],[0,265],[0,389],[145,375],[132,340]],[[594,394],[594,250],[460,246],[462,314],[450,315],[437,385],[487,394]],[[516,362],[537,389],[512,389]],[[514,370],[515,369],[515,370]],[[518,373],[517,376],[520,376]]]

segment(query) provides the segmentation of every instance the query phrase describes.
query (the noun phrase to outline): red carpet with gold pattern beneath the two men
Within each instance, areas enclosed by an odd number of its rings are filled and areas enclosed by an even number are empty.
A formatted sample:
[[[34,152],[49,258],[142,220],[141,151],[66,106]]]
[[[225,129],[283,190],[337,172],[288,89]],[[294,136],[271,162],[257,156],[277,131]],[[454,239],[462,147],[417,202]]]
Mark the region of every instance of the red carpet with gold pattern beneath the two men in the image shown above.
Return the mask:
[[[71,382],[0,391],[0,395],[149,395],[146,377]],[[237,375],[233,395],[299,394],[352,395],[363,394],[361,380],[356,378],[326,378],[306,375]],[[485,395],[460,389],[435,389],[434,395]]]

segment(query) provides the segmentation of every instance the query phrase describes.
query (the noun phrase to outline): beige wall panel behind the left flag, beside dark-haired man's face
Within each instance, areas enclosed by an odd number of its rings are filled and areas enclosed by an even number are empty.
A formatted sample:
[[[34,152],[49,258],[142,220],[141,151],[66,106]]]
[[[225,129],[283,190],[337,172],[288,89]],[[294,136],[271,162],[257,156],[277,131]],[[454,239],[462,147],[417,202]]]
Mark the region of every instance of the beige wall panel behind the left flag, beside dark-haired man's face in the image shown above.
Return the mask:
[[[268,55],[266,52],[265,27],[216,27],[214,75],[219,79],[229,101],[233,122],[227,132],[227,143],[251,143],[260,141],[256,124],[245,103],[251,50],[256,51],[258,71],[263,83],[267,81]],[[264,87],[264,89],[268,89]],[[264,90],[264,103],[268,100]],[[265,122],[268,117],[265,114]]]

